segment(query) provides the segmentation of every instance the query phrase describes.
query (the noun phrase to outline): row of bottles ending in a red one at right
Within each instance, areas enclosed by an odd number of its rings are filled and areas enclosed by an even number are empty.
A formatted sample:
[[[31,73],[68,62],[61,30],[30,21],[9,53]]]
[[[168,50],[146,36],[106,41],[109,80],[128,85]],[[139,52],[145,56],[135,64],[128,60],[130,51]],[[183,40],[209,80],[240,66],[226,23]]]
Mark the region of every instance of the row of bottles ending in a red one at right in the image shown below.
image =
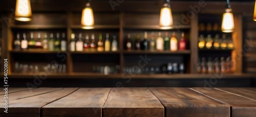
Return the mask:
[[[168,33],[165,33],[165,37],[161,37],[161,33],[158,33],[158,38],[155,40],[155,35],[151,35],[151,40],[147,39],[147,32],[144,33],[143,41],[140,41],[139,34],[136,35],[136,41],[132,43],[131,35],[127,35],[126,41],[126,50],[131,51],[132,46],[135,46],[135,50],[157,50],[157,51],[184,51],[186,50],[186,39],[184,37],[184,33],[181,34],[182,38],[178,42],[177,38],[175,37],[175,32],[173,32],[173,36],[171,38],[168,37]]]

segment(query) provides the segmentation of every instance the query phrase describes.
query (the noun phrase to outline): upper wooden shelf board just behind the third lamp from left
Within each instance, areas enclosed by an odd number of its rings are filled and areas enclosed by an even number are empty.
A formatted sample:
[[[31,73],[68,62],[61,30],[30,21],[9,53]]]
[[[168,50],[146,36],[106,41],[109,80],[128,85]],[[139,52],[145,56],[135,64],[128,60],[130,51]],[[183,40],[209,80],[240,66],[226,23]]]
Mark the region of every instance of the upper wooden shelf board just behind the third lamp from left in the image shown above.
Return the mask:
[[[190,25],[189,26],[174,26],[170,29],[161,29],[160,26],[156,25],[156,26],[124,26],[124,29],[143,29],[143,30],[175,30],[175,29],[190,29]]]

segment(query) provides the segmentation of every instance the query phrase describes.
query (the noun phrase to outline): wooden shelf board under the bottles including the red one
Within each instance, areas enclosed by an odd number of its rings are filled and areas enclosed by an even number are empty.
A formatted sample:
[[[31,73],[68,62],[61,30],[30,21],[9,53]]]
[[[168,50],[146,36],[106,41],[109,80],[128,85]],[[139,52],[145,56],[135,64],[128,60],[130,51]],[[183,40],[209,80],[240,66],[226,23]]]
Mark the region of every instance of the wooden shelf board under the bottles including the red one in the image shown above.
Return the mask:
[[[185,51],[143,51],[143,50],[132,50],[132,51],[123,51],[123,54],[190,54],[190,50]]]

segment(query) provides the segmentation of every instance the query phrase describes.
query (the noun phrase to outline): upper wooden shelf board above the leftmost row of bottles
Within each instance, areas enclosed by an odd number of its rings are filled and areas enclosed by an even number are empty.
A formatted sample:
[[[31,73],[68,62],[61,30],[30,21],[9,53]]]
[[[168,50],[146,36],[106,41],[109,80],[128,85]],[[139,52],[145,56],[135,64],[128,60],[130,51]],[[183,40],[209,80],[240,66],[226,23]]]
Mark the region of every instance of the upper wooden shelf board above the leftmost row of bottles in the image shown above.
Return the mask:
[[[65,25],[18,25],[11,26],[12,29],[66,29]]]

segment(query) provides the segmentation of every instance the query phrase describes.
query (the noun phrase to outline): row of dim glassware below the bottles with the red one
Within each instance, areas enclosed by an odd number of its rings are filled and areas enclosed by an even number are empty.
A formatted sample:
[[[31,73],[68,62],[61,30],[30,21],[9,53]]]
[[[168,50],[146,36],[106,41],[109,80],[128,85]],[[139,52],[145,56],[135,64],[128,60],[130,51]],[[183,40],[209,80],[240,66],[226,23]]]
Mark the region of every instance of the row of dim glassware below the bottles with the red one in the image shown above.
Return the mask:
[[[167,63],[163,66],[124,67],[123,72],[129,74],[184,74],[184,63]]]

